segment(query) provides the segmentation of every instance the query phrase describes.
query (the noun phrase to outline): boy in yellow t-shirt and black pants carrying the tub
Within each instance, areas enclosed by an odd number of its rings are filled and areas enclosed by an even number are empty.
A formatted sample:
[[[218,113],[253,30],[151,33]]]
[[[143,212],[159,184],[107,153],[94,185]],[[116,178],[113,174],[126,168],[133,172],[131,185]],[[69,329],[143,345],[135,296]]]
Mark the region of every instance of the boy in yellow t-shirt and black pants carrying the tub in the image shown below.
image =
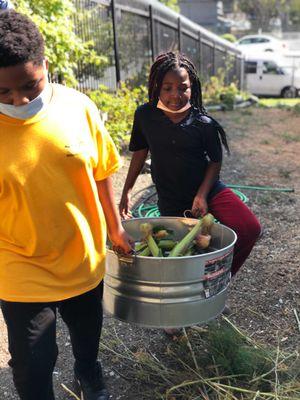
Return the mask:
[[[97,361],[106,229],[131,251],[110,175],[119,156],[96,106],[48,83],[35,24],[0,12],[0,299],[22,400],[53,400],[56,311],[85,400],[109,398]]]

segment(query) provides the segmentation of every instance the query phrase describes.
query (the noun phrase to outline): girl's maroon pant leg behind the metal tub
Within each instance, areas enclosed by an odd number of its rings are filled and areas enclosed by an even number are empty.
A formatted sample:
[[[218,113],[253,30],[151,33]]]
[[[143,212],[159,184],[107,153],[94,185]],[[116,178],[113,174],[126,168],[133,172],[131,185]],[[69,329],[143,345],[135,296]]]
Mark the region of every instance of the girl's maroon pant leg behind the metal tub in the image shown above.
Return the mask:
[[[221,224],[237,234],[231,270],[232,275],[235,275],[261,233],[260,223],[242,200],[228,188],[217,193],[208,202],[208,210]]]

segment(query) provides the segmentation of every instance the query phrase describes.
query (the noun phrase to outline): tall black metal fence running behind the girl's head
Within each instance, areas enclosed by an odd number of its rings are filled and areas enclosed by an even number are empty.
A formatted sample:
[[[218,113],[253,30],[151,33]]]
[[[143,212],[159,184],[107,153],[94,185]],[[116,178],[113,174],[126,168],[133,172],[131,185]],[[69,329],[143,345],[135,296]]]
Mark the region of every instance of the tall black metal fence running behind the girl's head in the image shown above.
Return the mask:
[[[81,12],[77,33],[92,40],[105,67],[78,65],[79,90],[97,89],[100,84],[114,90],[120,81],[146,83],[155,57],[179,50],[196,65],[207,81],[219,68],[227,83],[243,85],[243,57],[229,42],[209,32],[159,2],[151,0],[75,0]],[[80,17],[79,17],[80,16]]]

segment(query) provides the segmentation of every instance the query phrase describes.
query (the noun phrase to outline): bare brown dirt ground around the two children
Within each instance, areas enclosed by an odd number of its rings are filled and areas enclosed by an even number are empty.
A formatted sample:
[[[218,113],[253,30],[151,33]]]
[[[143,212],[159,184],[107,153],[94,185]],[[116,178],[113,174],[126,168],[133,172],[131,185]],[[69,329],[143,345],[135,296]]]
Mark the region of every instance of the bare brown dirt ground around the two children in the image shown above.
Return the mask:
[[[242,190],[248,205],[260,219],[264,235],[240,273],[231,282],[228,304],[230,317],[250,337],[277,344],[287,350],[300,348],[300,115],[283,109],[249,108],[214,113],[225,127],[231,156],[225,157],[222,179],[228,184],[293,188],[294,192]],[[117,199],[127,172],[115,176]],[[151,183],[142,175],[135,190]],[[7,365],[6,329],[0,316],[0,400],[15,400],[11,371]],[[137,328],[105,315],[103,360],[107,385],[113,400],[143,400],[144,383],[132,379],[113,348],[112,337],[127,348],[163,352],[168,338],[162,331]],[[54,372],[57,400],[74,399],[62,386],[72,390],[73,357],[68,333],[59,320],[59,358]],[[155,382],[152,382],[155,385]],[[149,397],[147,397],[148,399]],[[162,397],[163,398],[163,397]],[[43,399],[36,399],[43,400]]]

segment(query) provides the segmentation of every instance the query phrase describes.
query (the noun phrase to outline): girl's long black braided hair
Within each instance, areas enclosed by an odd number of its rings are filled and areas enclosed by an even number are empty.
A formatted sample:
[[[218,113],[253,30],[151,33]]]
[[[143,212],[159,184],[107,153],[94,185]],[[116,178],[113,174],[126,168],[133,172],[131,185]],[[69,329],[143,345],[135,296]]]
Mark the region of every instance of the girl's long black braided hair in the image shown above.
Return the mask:
[[[182,53],[175,53],[172,51],[162,53],[152,64],[148,83],[149,103],[154,104],[158,102],[162,82],[166,73],[169,71],[178,70],[179,68],[184,68],[189,74],[191,81],[191,105],[197,108],[201,114],[207,115],[207,112],[202,104],[202,89],[197,69],[192,61]],[[215,122],[222,144],[229,154],[230,151],[224,129],[212,117],[210,118]]]

